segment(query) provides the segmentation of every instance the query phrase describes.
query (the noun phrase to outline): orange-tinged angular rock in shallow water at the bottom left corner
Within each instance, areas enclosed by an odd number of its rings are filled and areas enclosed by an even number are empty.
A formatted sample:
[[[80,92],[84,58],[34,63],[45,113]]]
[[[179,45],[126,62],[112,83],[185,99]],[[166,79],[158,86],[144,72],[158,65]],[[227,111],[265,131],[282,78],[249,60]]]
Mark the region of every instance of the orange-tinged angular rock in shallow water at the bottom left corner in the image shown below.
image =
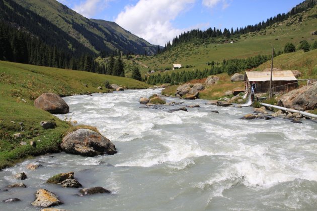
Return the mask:
[[[35,201],[32,202],[33,206],[49,207],[62,204],[55,193],[46,189],[38,189],[35,193]]]

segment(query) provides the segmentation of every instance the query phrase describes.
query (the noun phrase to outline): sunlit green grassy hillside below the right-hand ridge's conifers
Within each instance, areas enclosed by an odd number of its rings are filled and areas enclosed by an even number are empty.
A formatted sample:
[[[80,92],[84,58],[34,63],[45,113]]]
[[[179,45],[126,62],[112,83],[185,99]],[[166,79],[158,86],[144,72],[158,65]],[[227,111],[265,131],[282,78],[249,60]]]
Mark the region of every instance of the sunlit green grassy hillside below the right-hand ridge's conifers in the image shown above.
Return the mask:
[[[276,53],[282,52],[287,42],[293,43],[298,50],[300,41],[306,40],[311,45],[317,39],[317,36],[312,34],[317,30],[315,14],[317,14],[317,6],[261,31],[237,35],[229,39],[224,37],[192,39],[159,55],[139,57],[136,60],[149,67],[138,65],[144,75],[149,70],[171,68],[173,64],[182,64],[183,67],[192,66],[184,68],[185,70],[209,69],[210,66],[207,63],[211,61],[221,63],[223,59],[247,58],[259,54],[269,55],[272,47],[275,48]],[[130,61],[127,65],[132,66],[135,63]]]

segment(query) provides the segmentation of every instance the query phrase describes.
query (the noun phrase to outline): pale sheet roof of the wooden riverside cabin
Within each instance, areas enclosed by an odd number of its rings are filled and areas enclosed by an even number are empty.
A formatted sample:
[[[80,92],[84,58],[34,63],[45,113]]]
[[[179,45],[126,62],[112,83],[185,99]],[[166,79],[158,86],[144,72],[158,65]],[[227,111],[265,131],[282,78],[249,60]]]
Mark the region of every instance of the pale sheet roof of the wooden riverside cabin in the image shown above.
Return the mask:
[[[246,72],[247,80],[249,81],[269,81],[271,77],[271,71],[248,71]],[[284,81],[290,81],[290,80],[297,80],[290,70],[284,70],[284,71],[273,71],[272,80],[284,80]]]

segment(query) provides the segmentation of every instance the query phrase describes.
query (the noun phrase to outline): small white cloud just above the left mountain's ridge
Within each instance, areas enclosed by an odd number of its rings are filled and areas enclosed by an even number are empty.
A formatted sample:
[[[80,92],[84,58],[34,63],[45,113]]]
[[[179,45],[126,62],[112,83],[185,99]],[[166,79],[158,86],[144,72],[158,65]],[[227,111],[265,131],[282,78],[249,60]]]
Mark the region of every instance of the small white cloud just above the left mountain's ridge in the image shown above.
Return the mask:
[[[92,18],[103,11],[107,7],[108,2],[109,0],[86,0],[79,5],[75,5],[73,10],[86,18]]]

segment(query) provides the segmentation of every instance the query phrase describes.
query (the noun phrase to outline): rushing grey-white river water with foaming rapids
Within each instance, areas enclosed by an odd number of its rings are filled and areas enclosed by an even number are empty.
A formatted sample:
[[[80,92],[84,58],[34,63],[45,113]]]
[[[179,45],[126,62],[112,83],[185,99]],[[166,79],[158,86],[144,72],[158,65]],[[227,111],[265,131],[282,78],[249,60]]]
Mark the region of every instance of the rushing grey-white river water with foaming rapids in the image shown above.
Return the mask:
[[[166,97],[159,109],[140,108],[142,96],[161,89],[64,97],[68,120],[92,125],[118,153],[82,157],[43,155],[0,171],[0,189],[21,182],[27,188],[0,192],[0,210],[39,210],[31,202],[39,188],[56,193],[67,210],[316,210],[317,124],[303,120],[241,120],[251,107],[216,107],[206,100]],[[167,111],[186,105],[188,112]],[[217,110],[219,114],[211,113]],[[58,115],[65,119],[65,115]],[[41,164],[35,171],[29,163]],[[77,196],[78,189],[45,181],[74,172],[84,187],[102,186],[111,194]]]

